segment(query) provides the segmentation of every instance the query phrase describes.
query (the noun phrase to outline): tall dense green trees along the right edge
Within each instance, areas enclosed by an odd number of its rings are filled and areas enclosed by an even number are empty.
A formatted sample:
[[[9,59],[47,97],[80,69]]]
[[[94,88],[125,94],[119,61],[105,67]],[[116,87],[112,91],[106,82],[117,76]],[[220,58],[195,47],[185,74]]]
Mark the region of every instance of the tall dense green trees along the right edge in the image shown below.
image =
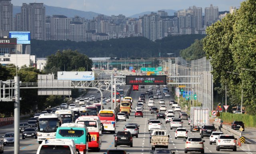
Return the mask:
[[[206,29],[204,51],[212,64],[215,82],[221,83],[221,91],[228,87],[232,104],[241,103],[256,111],[256,1],[246,0],[233,14]],[[235,72],[232,74],[227,72]]]

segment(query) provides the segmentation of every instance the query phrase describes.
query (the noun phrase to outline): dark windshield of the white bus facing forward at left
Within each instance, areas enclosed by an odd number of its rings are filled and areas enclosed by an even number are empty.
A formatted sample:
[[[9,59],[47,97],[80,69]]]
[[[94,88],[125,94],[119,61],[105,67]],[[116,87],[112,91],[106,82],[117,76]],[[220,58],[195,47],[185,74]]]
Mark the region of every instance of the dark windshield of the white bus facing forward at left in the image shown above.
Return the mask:
[[[38,119],[38,132],[52,133],[56,132],[58,126],[58,118],[40,118]]]

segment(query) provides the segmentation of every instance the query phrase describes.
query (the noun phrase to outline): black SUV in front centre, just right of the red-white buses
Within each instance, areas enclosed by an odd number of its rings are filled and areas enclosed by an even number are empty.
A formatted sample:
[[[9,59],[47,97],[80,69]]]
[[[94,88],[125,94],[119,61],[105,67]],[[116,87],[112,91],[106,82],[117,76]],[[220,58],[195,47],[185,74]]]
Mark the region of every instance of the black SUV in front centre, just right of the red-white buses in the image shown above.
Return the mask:
[[[118,131],[114,136],[115,147],[117,147],[118,145],[127,145],[132,147],[132,134],[130,132]]]

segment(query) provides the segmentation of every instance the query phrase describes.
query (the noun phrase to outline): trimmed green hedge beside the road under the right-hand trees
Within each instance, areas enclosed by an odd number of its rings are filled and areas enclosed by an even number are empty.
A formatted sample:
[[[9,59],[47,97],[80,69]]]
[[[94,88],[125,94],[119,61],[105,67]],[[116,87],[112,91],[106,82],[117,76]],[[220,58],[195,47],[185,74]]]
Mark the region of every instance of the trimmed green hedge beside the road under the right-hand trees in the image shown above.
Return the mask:
[[[221,119],[226,122],[243,121],[244,127],[256,128],[256,115],[222,113]]]

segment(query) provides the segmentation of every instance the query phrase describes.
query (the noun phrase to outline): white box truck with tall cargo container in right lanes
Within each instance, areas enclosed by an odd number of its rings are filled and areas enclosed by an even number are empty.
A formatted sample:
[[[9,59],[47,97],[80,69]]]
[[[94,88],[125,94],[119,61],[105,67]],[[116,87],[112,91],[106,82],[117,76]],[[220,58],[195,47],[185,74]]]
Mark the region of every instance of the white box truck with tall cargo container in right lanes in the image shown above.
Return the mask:
[[[190,109],[190,131],[198,132],[203,125],[209,124],[208,107],[191,107]]]

